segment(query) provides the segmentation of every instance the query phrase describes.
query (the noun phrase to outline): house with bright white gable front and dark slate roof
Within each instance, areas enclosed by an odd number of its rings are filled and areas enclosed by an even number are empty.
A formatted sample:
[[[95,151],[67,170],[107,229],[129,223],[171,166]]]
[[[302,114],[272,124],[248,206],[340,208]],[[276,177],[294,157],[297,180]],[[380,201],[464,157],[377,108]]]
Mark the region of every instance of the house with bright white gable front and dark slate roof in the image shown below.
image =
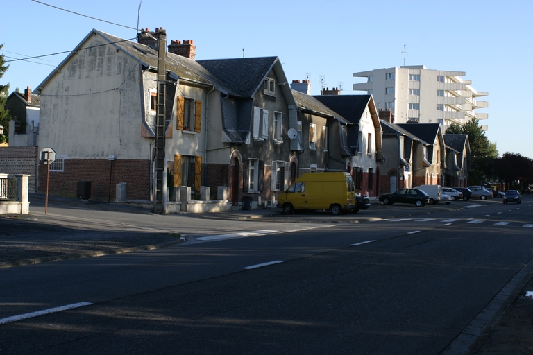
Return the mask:
[[[353,175],[355,189],[370,197],[380,195],[380,164],[384,162],[382,130],[372,95],[314,96],[331,110],[340,114],[351,125],[347,128],[347,146],[350,158],[346,171]]]

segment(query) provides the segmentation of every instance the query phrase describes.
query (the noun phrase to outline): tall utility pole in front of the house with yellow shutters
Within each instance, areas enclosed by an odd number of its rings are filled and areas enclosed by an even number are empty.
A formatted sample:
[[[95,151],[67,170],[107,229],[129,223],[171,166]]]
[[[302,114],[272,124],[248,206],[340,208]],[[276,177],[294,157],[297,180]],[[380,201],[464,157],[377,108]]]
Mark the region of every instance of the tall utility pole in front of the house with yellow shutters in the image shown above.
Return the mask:
[[[167,214],[167,161],[164,156],[165,139],[165,114],[164,103],[166,98],[167,81],[167,31],[156,28],[158,36],[158,80],[157,80],[157,107],[155,119],[155,159],[153,178],[153,211]]]

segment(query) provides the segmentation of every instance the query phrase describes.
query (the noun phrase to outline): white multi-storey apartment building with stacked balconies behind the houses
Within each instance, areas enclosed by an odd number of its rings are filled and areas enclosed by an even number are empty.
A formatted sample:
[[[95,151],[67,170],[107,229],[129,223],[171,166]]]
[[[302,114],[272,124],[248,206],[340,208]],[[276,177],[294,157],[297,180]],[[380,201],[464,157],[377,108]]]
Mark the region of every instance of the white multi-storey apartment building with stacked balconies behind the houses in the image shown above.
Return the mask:
[[[353,73],[356,78],[366,78],[353,89],[371,94],[378,109],[390,109],[395,123],[448,126],[488,119],[489,114],[476,111],[489,106],[487,101],[476,99],[488,93],[477,92],[471,80],[461,78],[464,75],[464,71],[432,70],[424,65],[375,69]],[[487,130],[487,125],[482,128]]]

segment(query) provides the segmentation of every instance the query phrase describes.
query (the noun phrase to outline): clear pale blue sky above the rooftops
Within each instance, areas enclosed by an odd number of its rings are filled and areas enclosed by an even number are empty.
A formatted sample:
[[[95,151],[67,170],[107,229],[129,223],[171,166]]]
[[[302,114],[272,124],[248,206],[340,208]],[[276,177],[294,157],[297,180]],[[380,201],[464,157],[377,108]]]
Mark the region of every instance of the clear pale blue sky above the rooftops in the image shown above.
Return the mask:
[[[363,80],[353,73],[404,61],[464,71],[489,93],[477,112],[489,114],[480,124],[498,153],[533,159],[532,110],[522,105],[533,99],[531,0],[17,0],[1,8],[0,53],[13,61],[0,84],[10,92],[34,90],[68,53],[17,59],[71,51],[92,28],[135,40],[138,21],[164,28],[167,42],[193,40],[197,60],[277,56],[289,82],[310,79],[313,95],[322,85],[365,94],[353,91]]]

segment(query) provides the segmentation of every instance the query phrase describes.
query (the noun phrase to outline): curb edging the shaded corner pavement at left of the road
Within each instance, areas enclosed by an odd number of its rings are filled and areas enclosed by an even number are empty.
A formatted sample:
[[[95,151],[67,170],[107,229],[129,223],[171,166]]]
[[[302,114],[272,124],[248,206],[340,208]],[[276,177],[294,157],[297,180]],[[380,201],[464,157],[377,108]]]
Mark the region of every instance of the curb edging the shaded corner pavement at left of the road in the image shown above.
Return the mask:
[[[117,248],[117,249],[108,249],[108,250],[97,250],[94,252],[65,254],[65,255],[58,255],[56,257],[40,257],[40,258],[33,258],[33,259],[20,259],[20,260],[15,260],[15,261],[3,261],[0,263],[0,269],[1,268],[14,268],[15,266],[34,265],[37,263],[48,263],[51,261],[65,261],[65,260],[83,259],[83,258],[90,258],[90,257],[103,257],[104,255],[126,254],[128,252],[140,252],[142,250],[155,250],[155,249],[170,247],[178,243],[183,243],[183,241],[179,240],[179,241],[171,241],[169,243],[162,243],[162,244],[157,244],[157,245],[141,245],[138,247],[130,247],[130,248]]]

